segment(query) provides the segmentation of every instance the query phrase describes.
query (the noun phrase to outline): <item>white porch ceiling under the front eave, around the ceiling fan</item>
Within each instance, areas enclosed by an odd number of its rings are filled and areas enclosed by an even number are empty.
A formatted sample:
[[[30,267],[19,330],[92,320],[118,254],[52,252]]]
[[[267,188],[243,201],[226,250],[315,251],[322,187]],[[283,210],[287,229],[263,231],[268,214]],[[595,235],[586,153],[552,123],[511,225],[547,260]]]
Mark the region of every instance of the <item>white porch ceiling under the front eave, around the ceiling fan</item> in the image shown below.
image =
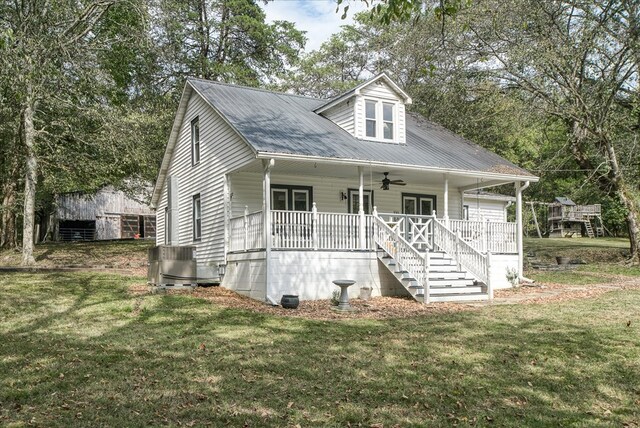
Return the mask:
[[[388,172],[389,178],[392,180],[404,180],[408,184],[415,185],[444,185],[445,175],[449,178],[450,188],[482,188],[497,186],[500,184],[513,183],[514,178],[484,176],[482,173],[472,174],[471,172],[441,172],[431,171],[427,169],[417,169],[402,166],[380,166],[363,164],[364,182],[366,186],[375,186],[376,183],[382,181],[383,173]],[[345,165],[331,162],[314,162],[300,160],[283,160],[275,161],[272,168],[274,175],[293,175],[293,176],[311,176],[311,177],[333,177],[348,180],[350,182],[358,182],[359,173],[356,165]],[[234,172],[263,173],[262,161],[256,159],[254,162],[238,169]]]

